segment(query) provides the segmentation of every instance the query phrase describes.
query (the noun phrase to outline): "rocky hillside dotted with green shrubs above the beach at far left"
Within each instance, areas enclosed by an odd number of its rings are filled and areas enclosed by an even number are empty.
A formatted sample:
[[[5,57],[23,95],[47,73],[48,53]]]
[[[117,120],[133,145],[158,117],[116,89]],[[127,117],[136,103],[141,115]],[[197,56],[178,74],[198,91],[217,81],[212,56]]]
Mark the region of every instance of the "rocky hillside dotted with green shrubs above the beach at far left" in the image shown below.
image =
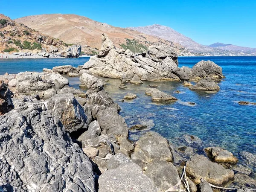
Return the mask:
[[[0,51],[2,52],[47,52],[65,51],[68,45],[63,41],[43,35],[38,31],[17,23],[0,14]],[[58,50],[57,50],[58,49]]]

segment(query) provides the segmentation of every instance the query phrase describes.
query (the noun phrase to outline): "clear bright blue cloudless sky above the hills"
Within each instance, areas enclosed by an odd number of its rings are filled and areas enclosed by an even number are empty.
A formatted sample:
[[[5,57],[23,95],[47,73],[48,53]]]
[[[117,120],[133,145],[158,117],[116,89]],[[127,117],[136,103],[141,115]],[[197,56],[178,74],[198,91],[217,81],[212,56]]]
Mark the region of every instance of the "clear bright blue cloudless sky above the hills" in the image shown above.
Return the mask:
[[[0,0],[0,13],[76,14],[119,27],[157,23],[200,44],[256,48],[256,0]]]

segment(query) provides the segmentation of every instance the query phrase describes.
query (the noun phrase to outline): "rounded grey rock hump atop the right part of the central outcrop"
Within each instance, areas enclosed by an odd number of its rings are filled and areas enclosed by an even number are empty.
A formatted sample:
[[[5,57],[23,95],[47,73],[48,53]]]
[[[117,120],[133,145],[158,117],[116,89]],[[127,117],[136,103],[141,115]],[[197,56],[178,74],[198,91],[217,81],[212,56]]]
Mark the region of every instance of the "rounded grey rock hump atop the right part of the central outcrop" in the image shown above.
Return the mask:
[[[151,58],[153,61],[157,61],[157,62],[161,62],[166,57],[170,57],[178,65],[178,62],[177,62],[178,54],[177,54],[176,49],[173,47],[166,46],[166,45],[159,45],[159,46],[151,45],[151,46],[149,46],[146,57]]]

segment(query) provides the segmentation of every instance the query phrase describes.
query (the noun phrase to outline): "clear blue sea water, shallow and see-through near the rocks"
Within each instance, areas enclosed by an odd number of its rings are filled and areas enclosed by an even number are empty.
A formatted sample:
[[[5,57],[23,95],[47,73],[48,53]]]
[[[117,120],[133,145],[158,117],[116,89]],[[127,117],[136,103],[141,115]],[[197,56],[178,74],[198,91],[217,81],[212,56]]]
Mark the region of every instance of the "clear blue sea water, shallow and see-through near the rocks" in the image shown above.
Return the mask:
[[[88,58],[76,59],[15,59],[0,60],[0,74],[20,71],[41,71],[58,65],[84,64]],[[217,93],[200,93],[183,87],[181,82],[144,82],[128,84],[120,90],[119,79],[109,79],[105,86],[122,110],[127,124],[145,124],[176,144],[183,142],[184,134],[193,134],[204,141],[204,146],[221,146],[239,156],[241,151],[256,153],[256,105],[238,105],[238,101],[256,102],[256,57],[180,57],[179,66],[192,67],[198,61],[211,60],[223,68],[225,79],[219,82]],[[105,78],[104,78],[105,79]],[[69,78],[70,85],[78,88],[79,78]],[[157,84],[160,90],[175,96],[177,102],[152,102],[145,95],[148,84]],[[179,90],[180,93],[175,93]],[[128,93],[137,99],[121,102]],[[186,102],[195,102],[189,106]],[[136,140],[141,134],[131,133]]]

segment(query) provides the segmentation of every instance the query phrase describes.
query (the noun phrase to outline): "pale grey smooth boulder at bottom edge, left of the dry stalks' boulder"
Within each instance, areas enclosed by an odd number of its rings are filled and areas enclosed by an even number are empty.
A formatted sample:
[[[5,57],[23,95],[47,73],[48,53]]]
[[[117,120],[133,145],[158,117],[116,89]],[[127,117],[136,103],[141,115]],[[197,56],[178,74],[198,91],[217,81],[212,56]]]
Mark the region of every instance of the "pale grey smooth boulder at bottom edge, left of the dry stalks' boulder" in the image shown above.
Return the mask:
[[[125,163],[109,169],[99,176],[99,192],[157,192],[152,181],[143,174],[140,166]]]

